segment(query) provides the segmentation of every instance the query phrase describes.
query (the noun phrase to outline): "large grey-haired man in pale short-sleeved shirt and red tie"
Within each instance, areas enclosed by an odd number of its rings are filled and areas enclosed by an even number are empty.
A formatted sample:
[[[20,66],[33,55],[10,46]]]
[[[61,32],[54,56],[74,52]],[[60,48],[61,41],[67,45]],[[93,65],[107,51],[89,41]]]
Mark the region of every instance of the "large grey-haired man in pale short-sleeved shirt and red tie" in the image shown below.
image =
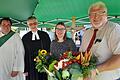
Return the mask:
[[[89,18],[92,28],[84,33],[80,51],[91,51],[98,59],[96,69],[91,71],[92,80],[120,80],[120,25],[108,21],[103,2],[90,6]],[[95,30],[96,37],[89,47]]]

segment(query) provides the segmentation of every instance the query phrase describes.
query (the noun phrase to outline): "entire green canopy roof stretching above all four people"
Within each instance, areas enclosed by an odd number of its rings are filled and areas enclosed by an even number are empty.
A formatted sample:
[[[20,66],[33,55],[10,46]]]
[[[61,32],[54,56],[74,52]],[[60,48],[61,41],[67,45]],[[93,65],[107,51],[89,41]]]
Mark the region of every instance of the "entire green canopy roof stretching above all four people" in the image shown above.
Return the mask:
[[[0,0],[0,17],[11,17],[19,27],[25,27],[31,15],[38,18],[39,27],[54,27],[59,21],[71,26],[72,16],[76,25],[89,24],[89,6],[97,1],[105,2],[109,20],[120,22],[120,0]]]

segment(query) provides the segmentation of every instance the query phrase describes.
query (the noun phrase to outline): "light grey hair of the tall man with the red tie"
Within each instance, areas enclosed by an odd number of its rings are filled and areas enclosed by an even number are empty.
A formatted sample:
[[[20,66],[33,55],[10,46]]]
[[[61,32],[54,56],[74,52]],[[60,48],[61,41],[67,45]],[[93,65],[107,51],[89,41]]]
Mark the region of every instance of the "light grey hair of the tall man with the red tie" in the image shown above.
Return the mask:
[[[105,3],[99,1],[99,2],[96,2],[96,3],[93,3],[90,7],[89,7],[89,10],[88,10],[88,13],[90,13],[90,10],[94,7],[99,7],[99,8],[103,8],[105,10],[105,12],[107,13],[107,7],[105,5]]]

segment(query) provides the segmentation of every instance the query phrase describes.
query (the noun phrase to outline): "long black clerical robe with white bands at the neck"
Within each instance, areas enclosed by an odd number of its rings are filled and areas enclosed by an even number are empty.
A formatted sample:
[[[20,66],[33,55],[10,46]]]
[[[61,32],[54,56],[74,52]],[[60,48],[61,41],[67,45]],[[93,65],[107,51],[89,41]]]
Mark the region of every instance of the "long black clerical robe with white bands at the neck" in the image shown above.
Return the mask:
[[[38,55],[39,49],[45,49],[50,52],[50,38],[46,32],[39,31],[40,40],[32,40],[32,32],[28,32],[22,38],[25,48],[25,72],[28,72],[26,80],[47,80],[46,73],[39,73],[35,69],[34,58]]]

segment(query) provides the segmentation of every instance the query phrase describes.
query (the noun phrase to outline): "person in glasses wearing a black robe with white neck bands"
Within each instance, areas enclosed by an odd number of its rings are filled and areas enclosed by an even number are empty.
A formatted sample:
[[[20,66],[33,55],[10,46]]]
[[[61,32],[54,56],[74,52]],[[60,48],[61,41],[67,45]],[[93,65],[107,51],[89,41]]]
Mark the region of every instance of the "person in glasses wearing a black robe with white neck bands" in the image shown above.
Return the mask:
[[[27,25],[31,31],[22,38],[25,47],[25,74],[26,80],[47,80],[46,73],[39,73],[35,69],[34,58],[38,55],[39,49],[50,51],[49,35],[37,29],[38,21],[34,16],[27,20]]]

